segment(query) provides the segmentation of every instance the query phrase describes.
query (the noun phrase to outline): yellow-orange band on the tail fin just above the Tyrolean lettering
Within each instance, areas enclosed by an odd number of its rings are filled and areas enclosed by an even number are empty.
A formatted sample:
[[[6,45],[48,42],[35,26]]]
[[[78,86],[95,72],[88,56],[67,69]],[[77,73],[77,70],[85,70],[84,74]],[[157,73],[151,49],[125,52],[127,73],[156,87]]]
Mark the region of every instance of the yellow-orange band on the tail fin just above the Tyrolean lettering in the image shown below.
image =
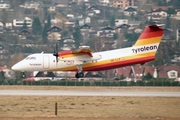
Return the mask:
[[[153,44],[153,43],[159,43],[161,41],[161,36],[160,37],[154,37],[154,38],[147,38],[147,39],[140,39],[138,40],[134,46],[141,46],[145,44]]]

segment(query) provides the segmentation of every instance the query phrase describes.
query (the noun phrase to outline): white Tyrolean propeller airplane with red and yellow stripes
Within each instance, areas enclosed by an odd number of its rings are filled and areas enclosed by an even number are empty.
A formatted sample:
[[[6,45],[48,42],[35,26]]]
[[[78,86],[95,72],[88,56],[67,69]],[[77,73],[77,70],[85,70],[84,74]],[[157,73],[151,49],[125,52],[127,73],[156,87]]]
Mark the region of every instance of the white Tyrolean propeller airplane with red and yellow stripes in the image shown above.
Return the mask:
[[[89,46],[76,50],[35,53],[12,66],[21,71],[76,71],[76,78],[84,71],[103,71],[134,64],[145,64],[155,59],[164,30],[157,25],[147,25],[132,47],[93,53]],[[24,75],[24,74],[23,74]]]

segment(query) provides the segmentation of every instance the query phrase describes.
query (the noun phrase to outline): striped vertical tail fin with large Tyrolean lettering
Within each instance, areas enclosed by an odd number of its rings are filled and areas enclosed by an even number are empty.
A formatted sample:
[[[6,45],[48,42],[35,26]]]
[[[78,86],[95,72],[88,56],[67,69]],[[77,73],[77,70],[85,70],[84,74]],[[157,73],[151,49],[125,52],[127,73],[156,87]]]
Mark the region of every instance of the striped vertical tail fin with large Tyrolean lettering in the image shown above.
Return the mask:
[[[145,53],[146,55],[154,56],[163,34],[164,30],[159,28],[157,25],[147,25],[137,42],[133,45],[133,53]]]

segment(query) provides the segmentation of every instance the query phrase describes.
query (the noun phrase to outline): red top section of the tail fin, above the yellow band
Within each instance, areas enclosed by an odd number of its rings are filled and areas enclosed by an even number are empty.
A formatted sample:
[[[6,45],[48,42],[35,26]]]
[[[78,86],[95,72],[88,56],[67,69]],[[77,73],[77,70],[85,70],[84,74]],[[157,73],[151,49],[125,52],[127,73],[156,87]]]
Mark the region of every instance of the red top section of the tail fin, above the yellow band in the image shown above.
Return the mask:
[[[157,26],[146,26],[146,28],[144,29],[143,33],[140,35],[138,40],[159,37],[159,36],[162,36],[163,33],[164,33],[164,30]]]

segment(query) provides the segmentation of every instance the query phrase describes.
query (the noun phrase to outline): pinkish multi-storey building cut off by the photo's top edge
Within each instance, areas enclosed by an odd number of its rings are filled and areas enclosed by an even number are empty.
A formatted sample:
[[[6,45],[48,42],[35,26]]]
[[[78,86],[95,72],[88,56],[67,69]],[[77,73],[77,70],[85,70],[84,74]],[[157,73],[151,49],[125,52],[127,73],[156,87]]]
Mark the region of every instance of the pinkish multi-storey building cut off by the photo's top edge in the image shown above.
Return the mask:
[[[135,0],[114,0],[113,7],[125,9],[129,6],[134,6]]]

